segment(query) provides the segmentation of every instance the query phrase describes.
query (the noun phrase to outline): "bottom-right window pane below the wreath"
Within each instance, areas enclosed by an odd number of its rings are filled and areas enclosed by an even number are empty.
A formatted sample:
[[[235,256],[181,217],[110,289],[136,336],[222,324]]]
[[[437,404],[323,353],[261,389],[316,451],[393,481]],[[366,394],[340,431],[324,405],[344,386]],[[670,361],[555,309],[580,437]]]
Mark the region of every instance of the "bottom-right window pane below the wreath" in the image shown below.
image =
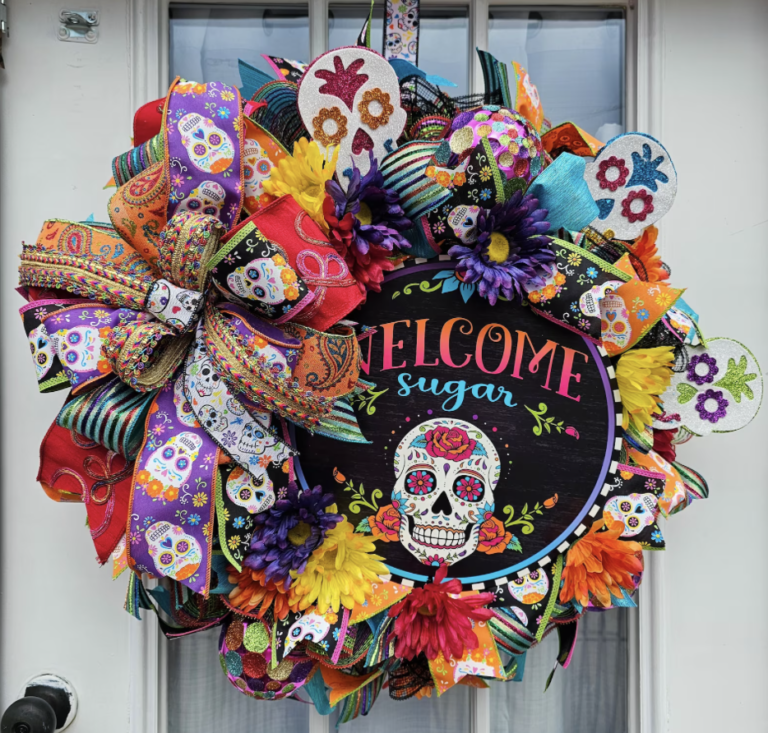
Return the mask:
[[[625,733],[628,613],[637,611],[585,614],[571,664],[546,693],[556,632],[528,653],[522,682],[492,683],[491,733]]]

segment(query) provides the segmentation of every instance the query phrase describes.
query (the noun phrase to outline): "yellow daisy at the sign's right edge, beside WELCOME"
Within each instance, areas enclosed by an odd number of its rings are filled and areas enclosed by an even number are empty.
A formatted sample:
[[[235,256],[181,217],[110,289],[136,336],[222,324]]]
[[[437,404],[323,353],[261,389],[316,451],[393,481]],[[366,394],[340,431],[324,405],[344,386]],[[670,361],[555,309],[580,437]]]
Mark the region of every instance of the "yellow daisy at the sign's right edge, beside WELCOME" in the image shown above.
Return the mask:
[[[671,346],[633,349],[619,359],[616,381],[624,407],[624,429],[632,424],[641,432],[661,412],[661,395],[672,381],[674,352]]]

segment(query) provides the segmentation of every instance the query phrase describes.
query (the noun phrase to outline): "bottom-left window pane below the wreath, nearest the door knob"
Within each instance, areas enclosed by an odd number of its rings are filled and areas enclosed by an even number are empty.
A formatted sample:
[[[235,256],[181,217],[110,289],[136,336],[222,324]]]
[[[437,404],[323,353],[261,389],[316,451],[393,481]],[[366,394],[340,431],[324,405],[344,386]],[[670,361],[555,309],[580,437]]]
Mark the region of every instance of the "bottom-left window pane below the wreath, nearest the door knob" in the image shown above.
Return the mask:
[[[201,631],[168,644],[168,733],[307,733],[309,705],[253,700],[221,671],[219,631]]]

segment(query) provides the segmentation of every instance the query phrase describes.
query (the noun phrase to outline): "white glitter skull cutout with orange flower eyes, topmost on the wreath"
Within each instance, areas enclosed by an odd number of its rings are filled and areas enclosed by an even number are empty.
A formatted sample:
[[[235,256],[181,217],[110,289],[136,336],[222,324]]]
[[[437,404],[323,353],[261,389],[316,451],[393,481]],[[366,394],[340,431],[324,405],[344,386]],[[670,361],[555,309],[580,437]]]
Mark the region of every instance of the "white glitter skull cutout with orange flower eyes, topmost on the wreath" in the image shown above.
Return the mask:
[[[392,66],[375,51],[360,46],[318,56],[299,83],[299,113],[320,150],[338,146],[336,170],[341,186],[354,163],[361,174],[370,168],[370,151],[381,161],[397,147],[405,127],[400,86]]]

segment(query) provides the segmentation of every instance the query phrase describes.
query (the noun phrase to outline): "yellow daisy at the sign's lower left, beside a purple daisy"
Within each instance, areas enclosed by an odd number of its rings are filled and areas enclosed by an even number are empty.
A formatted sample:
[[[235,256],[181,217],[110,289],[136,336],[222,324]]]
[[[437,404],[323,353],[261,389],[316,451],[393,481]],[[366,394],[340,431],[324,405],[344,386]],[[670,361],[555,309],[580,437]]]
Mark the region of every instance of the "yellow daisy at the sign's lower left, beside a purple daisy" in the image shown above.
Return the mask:
[[[375,549],[374,542],[356,533],[346,519],[339,522],[312,553],[304,572],[291,571],[291,607],[304,611],[316,603],[322,615],[365,603],[371,583],[389,572],[380,562],[384,558],[372,554]]]

